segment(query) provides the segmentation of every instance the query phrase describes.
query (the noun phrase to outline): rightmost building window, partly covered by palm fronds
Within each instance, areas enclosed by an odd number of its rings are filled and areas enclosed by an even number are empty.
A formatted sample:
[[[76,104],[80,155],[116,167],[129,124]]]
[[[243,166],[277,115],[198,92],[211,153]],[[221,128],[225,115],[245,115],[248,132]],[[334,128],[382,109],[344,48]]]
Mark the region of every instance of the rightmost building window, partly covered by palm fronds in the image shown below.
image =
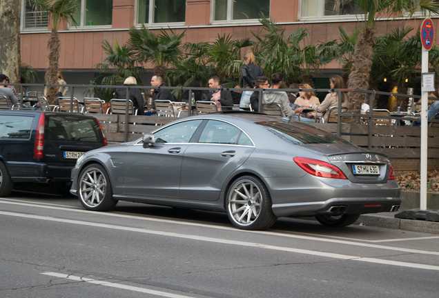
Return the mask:
[[[353,2],[343,3],[340,7],[335,0],[302,0],[302,17],[324,18],[331,16],[351,16],[362,13]]]

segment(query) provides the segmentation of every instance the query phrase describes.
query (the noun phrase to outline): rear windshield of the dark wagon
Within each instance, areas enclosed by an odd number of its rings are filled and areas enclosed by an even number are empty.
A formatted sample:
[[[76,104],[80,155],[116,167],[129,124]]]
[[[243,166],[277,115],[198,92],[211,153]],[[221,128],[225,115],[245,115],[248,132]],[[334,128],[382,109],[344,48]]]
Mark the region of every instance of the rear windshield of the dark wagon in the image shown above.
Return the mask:
[[[95,119],[75,116],[47,115],[44,139],[104,143],[99,123]]]

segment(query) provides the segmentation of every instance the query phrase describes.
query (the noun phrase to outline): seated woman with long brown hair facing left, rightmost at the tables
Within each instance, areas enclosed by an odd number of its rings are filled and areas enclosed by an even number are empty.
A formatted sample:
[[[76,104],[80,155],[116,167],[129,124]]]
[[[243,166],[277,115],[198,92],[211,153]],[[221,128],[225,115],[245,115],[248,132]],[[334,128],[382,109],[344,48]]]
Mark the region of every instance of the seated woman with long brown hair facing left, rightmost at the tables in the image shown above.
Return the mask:
[[[346,88],[346,86],[344,85],[343,78],[337,74],[329,78],[329,86],[331,86],[331,89]],[[328,95],[326,95],[326,97],[322,101],[322,103],[320,103],[320,106],[311,104],[309,107],[311,108],[311,110],[315,110],[315,112],[324,113],[323,121],[324,123],[326,123],[329,117],[329,113],[327,111],[333,106],[338,107],[338,91],[329,92]],[[347,107],[348,107],[347,95],[346,93],[342,93],[342,108],[347,108]],[[338,109],[336,109],[334,112],[331,113],[338,114]]]

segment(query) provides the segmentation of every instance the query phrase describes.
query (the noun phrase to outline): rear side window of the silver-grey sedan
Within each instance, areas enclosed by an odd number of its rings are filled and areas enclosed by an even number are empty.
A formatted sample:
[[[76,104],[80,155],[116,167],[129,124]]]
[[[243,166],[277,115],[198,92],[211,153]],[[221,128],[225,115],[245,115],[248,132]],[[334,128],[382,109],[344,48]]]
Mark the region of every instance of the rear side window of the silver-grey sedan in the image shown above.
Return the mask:
[[[243,139],[243,141],[241,141]],[[204,130],[199,137],[198,143],[222,143],[231,145],[252,145],[251,140],[248,139],[246,134],[235,126],[217,120],[210,120],[204,127]],[[241,141],[241,143],[240,143]]]

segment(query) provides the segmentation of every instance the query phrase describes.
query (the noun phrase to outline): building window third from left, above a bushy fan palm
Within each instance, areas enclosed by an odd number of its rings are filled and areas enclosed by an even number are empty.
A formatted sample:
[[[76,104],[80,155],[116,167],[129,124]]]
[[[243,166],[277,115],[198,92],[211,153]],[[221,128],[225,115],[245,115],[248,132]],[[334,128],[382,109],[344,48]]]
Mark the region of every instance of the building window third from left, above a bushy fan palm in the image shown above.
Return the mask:
[[[186,0],[139,0],[137,23],[183,23]]]

